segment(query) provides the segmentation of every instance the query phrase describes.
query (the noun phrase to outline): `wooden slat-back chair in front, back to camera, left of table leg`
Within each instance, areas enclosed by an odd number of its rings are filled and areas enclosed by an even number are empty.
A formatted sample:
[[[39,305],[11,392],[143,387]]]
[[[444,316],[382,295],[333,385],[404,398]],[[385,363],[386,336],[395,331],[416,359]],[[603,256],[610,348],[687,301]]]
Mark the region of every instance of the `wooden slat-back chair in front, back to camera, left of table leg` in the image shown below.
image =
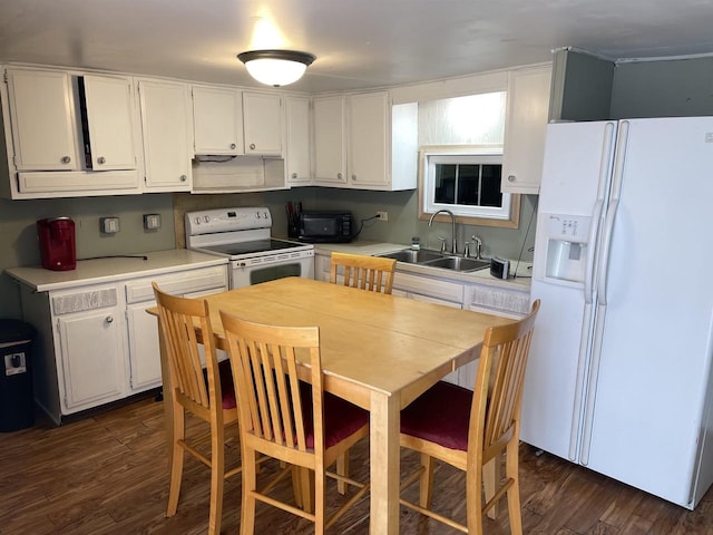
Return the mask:
[[[325,475],[336,458],[369,434],[369,415],[359,407],[322,389],[320,332],[316,327],[274,327],[247,322],[221,311],[228,342],[233,382],[237,391],[241,450],[243,459],[243,499],[241,534],[255,529],[256,502],[264,502],[315,524],[322,534],[368,486],[343,478],[361,487],[329,519],[324,514]],[[300,359],[310,368],[300,363]],[[299,380],[309,373],[310,383]],[[258,454],[273,457],[287,467],[263,489],[257,488]],[[314,512],[280,502],[267,495],[277,480],[291,470],[314,473],[314,495],[309,477],[303,481],[303,503],[314,498]],[[293,477],[295,471],[293,471]],[[305,481],[306,479],[306,481]],[[301,504],[297,504],[301,505]]]

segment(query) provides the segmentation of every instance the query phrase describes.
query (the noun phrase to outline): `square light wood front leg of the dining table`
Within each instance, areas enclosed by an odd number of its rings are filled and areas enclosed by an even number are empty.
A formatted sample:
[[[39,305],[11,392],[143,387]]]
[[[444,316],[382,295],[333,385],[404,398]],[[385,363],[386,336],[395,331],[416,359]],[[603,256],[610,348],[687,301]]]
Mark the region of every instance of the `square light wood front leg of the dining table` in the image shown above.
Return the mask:
[[[399,395],[371,393],[371,535],[399,533],[400,405]]]

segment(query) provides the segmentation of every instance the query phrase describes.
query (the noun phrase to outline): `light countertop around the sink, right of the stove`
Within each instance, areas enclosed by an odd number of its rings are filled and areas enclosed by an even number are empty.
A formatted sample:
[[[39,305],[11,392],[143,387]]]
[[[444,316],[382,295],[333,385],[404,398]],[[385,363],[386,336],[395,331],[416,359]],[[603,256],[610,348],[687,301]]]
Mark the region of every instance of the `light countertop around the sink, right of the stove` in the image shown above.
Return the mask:
[[[400,243],[384,243],[384,242],[372,242],[359,240],[351,243],[315,243],[314,251],[316,254],[330,254],[332,251],[343,252],[343,253],[354,253],[354,254],[382,254],[389,253],[392,251],[400,251],[402,249],[408,249],[409,245],[400,244]],[[402,271],[404,273],[416,273],[420,275],[427,276],[436,276],[439,279],[449,279],[460,282],[471,282],[471,283],[481,283],[488,284],[491,286],[500,286],[500,288],[509,288],[511,290],[526,291],[529,292],[530,281],[531,281],[531,262],[520,262],[517,264],[514,260],[510,259],[510,271],[516,271],[516,276],[510,278],[508,280],[497,279],[490,274],[490,270],[478,270],[470,273],[461,273],[451,270],[445,270],[441,268],[431,268],[428,265],[419,265],[419,264],[409,264],[399,262],[397,264],[397,271]]]

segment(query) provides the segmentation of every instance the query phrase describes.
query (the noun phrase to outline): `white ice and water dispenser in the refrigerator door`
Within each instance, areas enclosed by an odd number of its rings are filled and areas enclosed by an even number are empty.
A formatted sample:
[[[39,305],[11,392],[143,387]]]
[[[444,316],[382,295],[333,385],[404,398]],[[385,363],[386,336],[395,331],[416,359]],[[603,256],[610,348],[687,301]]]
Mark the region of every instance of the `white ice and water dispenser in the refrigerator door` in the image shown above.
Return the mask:
[[[540,247],[546,257],[544,279],[550,282],[584,283],[587,256],[589,255],[590,217],[577,215],[543,214],[540,224],[546,232],[540,233]]]

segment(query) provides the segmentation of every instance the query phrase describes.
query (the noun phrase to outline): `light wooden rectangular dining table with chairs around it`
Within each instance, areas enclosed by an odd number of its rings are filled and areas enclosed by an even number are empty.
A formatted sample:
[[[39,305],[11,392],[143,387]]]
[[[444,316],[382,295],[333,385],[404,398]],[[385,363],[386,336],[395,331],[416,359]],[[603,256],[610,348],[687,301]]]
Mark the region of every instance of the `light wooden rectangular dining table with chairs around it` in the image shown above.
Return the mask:
[[[221,310],[260,323],[320,328],[324,389],[370,412],[373,535],[399,533],[401,409],[439,379],[477,359],[488,327],[511,321],[301,278],[202,299],[208,302],[219,349],[226,349]],[[166,389],[165,356],[162,360]],[[170,396],[164,396],[164,401],[170,403]]]

